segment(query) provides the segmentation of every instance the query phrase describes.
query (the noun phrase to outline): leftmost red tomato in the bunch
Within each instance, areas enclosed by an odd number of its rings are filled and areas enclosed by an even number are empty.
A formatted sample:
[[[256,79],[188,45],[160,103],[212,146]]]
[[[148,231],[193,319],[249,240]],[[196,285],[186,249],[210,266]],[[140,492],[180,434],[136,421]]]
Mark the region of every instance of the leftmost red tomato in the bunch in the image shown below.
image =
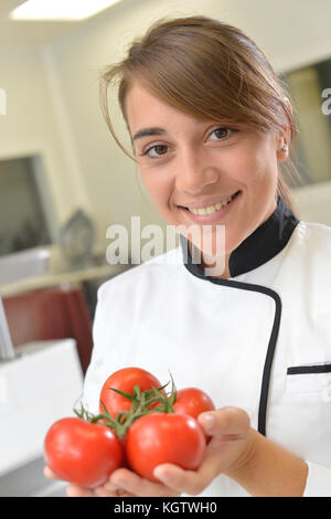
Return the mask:
[[[122,445],[114,431],[78,417],[55,422],[44,441],[44,457],[53,473],[82,487],[97,487],[121,466]]]

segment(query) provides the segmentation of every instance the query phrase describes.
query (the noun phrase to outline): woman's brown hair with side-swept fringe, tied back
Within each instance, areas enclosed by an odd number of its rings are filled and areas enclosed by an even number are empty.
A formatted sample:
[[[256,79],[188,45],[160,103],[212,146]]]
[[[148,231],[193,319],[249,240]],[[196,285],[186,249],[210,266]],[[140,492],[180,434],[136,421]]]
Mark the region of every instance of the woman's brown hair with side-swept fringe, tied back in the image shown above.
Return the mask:
[[[118,100],[126,118],[126,96],[139,81],[151,94],[199,119],[244,124],[257,131],[290,128],[289,149],[298,130],[282,81],[263,51],[239,29],[205,17],[161,20],[134,42],[127,57],[105,68],[100,104],[109,130],[108,87],[119,78]],[[135,158],[134,158],[135,160]],[[289,158],[278,174],[277,194],[292,209],[289,179],[299,177]]]

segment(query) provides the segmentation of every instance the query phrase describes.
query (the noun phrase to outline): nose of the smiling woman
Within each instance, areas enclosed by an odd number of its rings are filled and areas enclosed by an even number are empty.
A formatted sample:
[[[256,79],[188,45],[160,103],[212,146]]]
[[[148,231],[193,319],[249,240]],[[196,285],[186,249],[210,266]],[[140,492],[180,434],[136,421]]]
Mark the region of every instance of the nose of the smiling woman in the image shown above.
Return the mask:
[[[177,191],[194,195],[217,181],[217,168],[206,161],[203,152],[181,150],[175,160]]]

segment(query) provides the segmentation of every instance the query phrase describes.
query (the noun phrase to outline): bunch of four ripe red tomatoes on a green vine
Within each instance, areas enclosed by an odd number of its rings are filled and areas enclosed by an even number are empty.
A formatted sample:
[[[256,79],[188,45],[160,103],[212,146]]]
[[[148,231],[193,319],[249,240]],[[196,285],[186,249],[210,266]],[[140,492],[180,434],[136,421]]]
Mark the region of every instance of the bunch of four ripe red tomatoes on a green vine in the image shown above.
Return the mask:
[[[171,377],[172,379],[172,377]],[[140,368],[110,374],[99,396],[99,414],[81,405],[77,417],[64,417],[49,430],[45,462],[61,479],[82,487],[103,485],[119,467],[151,481],[153,469],[173,463],[186,470],[201,465],[209,438],[196,419],[215,409],[196,388],[171,392]]]

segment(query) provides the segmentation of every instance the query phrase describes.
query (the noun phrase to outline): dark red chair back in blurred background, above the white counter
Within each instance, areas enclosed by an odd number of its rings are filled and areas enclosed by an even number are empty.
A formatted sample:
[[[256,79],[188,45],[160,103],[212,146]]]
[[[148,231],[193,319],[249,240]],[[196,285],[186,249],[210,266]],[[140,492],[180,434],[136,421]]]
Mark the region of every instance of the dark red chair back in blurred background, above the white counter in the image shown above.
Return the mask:
[[[81,286],[54,287],[2,297],[13,347],[73,338],[83,373],[93,348],[92,319]]]

